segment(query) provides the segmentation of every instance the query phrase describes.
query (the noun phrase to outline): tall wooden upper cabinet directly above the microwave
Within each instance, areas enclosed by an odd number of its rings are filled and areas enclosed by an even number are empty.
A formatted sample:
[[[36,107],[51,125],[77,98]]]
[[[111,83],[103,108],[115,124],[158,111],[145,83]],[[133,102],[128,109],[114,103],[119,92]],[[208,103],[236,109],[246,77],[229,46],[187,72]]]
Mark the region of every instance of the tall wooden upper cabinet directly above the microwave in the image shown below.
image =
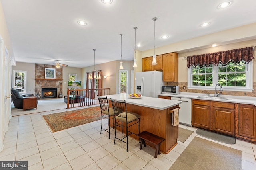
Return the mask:
[[[178,53],[163,55],[163,81],[178,82]]]

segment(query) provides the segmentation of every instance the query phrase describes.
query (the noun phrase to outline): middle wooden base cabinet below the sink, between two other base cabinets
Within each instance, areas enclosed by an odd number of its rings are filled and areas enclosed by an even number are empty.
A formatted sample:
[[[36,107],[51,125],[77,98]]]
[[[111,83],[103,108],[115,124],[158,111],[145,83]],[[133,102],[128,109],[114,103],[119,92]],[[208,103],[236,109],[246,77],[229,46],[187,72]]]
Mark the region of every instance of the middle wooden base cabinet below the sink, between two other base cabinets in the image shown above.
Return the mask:
[[[235,104],[212,102],[211,118],[214,131],[235,135]]]

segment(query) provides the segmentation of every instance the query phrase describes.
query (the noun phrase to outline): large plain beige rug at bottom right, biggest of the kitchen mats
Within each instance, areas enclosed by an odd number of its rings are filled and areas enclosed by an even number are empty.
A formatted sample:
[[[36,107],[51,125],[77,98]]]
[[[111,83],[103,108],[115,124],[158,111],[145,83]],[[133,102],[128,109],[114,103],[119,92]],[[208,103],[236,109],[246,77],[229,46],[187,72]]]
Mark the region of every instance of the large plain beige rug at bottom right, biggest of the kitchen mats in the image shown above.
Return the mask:
[[[169,170],[242,170],[242,153],[195,137]]]

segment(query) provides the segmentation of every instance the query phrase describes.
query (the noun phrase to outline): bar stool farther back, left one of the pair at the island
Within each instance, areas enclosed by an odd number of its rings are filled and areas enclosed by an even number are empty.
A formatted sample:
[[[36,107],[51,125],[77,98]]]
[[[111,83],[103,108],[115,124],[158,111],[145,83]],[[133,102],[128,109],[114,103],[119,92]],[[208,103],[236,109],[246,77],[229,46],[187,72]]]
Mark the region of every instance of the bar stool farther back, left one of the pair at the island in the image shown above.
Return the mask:
[[[98,96],[98,95],[97,95]],[[101,128],[100,128],[100,134],[101,134],[101,130],[102,128],[102,118],[106,118],[108,119],[108,129],[103,129],[104,131],[108,132],[108,139],[110,139],[110,120],[113,119],[113,129],[114,129],[114,109],[112,107],[108,107],[108,99],[103,98],[103,97],[99,97],[98,96],[98,100],[100,103],[100,111],[101,111]]]

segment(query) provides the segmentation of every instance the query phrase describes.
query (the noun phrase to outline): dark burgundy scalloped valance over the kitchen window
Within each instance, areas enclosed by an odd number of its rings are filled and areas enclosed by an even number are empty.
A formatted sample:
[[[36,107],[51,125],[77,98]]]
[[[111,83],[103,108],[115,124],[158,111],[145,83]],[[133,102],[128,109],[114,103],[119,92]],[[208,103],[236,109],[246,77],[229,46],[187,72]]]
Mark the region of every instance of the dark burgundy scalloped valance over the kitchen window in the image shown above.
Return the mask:
[[[192,55],[187,57],[187,66],[188,68],[191,66],[208,67],[211,64],[218,66],[218,64],[227,65],[230,62],[238,64],[240,61],[243,63],[250,63],[252,59],[254,59],[253,54],[254,47],[246,47],[228,51],[219,51],[216,53]]]

